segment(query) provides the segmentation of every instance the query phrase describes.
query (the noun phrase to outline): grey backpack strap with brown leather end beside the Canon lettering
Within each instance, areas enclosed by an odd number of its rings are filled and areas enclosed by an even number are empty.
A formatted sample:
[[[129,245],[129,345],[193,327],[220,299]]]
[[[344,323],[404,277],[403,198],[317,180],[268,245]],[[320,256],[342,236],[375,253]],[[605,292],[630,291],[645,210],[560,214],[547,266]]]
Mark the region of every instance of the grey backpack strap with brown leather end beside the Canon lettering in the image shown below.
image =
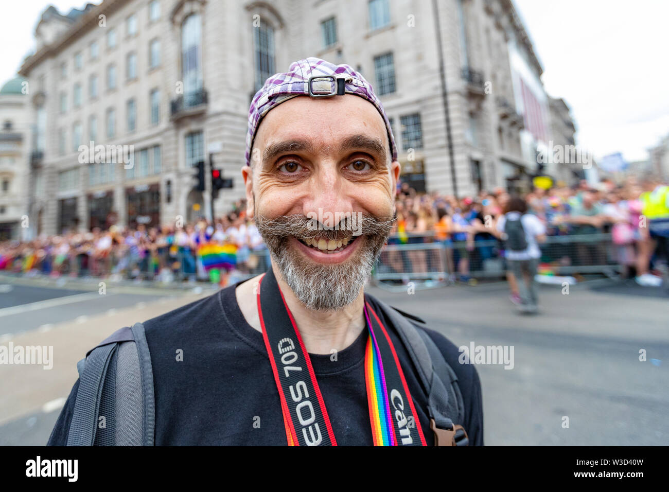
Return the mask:
[[[428,395],[427,411],[436,446],[467,446],[469,440],[462,425],[464,405],[458,378],[425,331],[417,329],[395,309],[375,299],[393,322],[397,334],[417,369],[418,378]],[[448,378],[442,381],[442,378]]]

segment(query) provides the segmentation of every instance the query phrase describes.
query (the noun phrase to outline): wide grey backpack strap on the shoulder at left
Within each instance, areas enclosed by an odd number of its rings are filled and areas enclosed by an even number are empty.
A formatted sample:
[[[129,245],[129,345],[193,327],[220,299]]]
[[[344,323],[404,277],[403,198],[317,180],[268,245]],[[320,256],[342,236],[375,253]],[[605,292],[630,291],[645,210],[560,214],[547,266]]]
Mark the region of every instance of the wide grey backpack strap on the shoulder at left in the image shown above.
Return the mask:
[[[144,326],[114,332],[77,363],[68,446],[153,446],[155,400]],[[104,426],[100,426],[100,417]]]

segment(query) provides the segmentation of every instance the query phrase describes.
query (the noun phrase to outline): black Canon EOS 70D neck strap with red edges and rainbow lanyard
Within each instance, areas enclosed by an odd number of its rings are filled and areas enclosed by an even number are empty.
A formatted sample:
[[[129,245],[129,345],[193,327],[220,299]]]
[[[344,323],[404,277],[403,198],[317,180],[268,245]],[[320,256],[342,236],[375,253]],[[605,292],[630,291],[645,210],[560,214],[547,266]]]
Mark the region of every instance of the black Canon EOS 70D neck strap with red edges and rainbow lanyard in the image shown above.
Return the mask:
[[[262,302],[261,302],[262,299]],[[388,331],[365,299],[365,384],[375,446],[425,446]],[[258,314],[289,446],[337,446],[309,354],[272,268],[260,279]]]

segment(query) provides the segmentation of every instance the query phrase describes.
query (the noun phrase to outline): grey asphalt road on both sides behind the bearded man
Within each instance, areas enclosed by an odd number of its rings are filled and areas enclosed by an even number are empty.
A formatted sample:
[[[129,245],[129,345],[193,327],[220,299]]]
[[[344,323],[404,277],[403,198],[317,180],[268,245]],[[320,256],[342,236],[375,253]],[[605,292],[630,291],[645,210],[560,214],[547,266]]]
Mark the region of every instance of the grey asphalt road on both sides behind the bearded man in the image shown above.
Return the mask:
[[[46,442],[86,349],[118,327],[209,294],[13,287],[0,287],[0,343],[54,345],[58,365],[0,367],[0,444],[10,445]],[[522,316],[504,284],[369,292],[458,346],[514,347],[510,370],[477,365],[486,444],[669,444],[666,295],[634,284],[571,286],[567,295],[543,286],[541,314]]]

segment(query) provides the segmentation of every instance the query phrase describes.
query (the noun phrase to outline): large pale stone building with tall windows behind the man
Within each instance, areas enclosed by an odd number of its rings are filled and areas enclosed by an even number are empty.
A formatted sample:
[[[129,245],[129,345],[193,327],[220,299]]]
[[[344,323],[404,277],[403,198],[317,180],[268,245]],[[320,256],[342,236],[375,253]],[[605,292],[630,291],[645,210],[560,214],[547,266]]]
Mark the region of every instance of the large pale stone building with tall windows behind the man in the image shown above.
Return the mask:
[[[518,187],[536,166],[509,47],[540,89],[541,64],[510,0],[104,0],[49,7],[35,37],[20,74],[39,232],[209,216],[209,173],[197,191],[193,166],[210,158],[233,179],[213,200],[227,212],[244,195],[252,95],[308,56],[375,86],[419,191]],[[132,162],[81,163],[90,142]]]

